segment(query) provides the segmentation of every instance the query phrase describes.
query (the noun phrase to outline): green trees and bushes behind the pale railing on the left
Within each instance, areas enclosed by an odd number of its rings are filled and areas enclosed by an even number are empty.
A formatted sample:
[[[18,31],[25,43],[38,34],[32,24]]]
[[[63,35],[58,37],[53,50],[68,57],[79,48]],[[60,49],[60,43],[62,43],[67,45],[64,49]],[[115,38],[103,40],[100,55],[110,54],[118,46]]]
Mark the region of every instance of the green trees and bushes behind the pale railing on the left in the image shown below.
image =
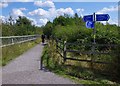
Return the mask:
[[[41,33],[42,29],[32,25],[32,21],[26,17],[19,16],[15,23],[15,21],[10,16],[9,21],[2,23],[2,36],[22,36]]]

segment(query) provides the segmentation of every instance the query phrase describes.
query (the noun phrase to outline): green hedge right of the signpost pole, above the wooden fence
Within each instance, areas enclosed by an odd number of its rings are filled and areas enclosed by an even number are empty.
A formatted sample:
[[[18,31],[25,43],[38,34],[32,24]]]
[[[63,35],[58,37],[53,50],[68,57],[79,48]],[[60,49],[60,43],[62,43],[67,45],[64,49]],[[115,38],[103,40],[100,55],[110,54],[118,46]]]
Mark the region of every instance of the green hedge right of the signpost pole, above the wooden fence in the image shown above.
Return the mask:
[[[116,25],[96,23],[96,42],[99,44],[118,44],[120,41]]]

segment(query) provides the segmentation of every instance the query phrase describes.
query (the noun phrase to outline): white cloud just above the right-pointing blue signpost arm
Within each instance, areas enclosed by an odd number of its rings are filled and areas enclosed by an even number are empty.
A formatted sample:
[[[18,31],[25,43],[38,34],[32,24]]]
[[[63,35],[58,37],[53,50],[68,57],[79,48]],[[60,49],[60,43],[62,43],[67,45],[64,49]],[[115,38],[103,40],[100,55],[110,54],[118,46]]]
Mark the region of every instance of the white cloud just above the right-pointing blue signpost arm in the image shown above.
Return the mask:
[[[114,11],[118,11],[118,6],[111,6],[109,8],[104,7],[102,10],[99,10],[97,13],[104,14],[104,13],[114,12]]]

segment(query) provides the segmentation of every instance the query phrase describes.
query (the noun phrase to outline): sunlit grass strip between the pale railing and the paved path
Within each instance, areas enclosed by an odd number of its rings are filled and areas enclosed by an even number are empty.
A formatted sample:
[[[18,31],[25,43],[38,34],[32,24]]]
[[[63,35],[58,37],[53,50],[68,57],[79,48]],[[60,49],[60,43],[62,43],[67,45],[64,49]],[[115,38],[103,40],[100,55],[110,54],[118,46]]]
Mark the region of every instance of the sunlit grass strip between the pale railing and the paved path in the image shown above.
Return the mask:
[[[29,41],[21,44],[15,44],[12,46],[7,46],[2,48],[2,66],[7,65],[11,60],[15,59],[17,56],[23,54],[25,51],[34,47],[36,44],[40,43],[41,39],[35,41]]]

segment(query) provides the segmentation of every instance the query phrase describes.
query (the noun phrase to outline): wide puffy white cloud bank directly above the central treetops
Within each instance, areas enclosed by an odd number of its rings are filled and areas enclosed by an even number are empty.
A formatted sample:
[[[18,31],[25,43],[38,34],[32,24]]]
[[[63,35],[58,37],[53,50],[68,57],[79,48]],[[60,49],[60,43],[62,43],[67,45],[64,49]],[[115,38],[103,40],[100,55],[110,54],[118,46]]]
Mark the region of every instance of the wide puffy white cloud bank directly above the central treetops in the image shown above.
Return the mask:
[[[68,14],[72,16],[74,15],[74,11],[72,10],[72,8],[50,8],[47,11],[39,8],[29,12],[28,14],[36,17],[35,21],[37,22],[37,26],[42,26],[45,25],[48,21],[53,21],[54,18],[61,15]]]

